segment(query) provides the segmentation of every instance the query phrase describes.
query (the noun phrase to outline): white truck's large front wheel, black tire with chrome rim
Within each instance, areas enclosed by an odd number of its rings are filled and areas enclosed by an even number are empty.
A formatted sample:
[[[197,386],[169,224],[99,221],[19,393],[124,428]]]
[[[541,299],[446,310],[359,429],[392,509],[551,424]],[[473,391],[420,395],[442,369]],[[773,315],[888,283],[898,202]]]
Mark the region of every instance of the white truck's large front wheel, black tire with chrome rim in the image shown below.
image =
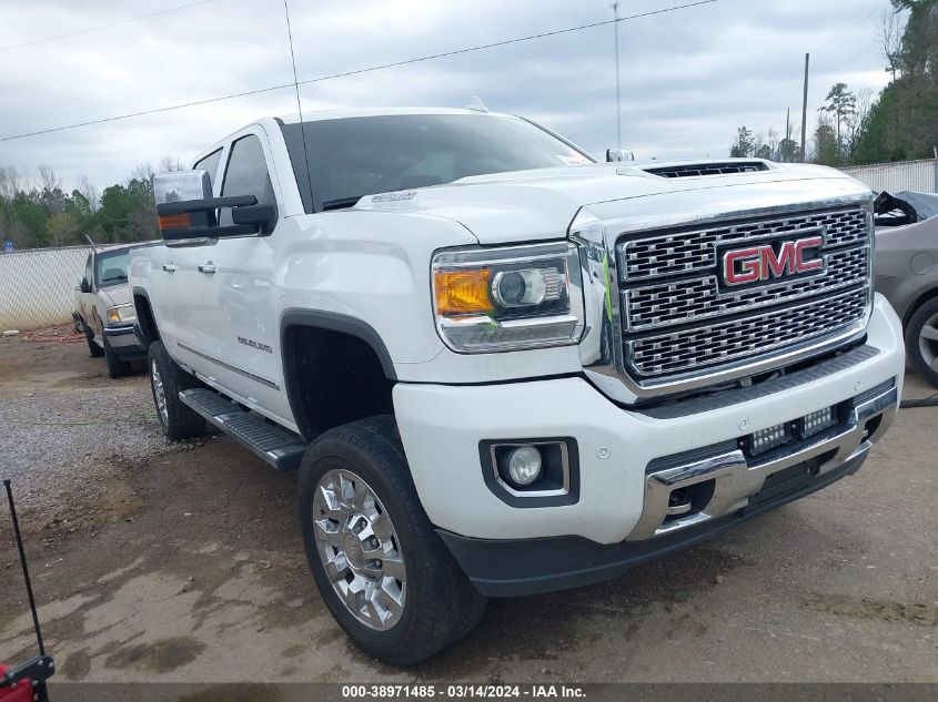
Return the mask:
[[[297,508],[313,578],[369,654],[418,663],[468,633],[486,599],[417,498],[393,417],[323,434],[300,466]]]

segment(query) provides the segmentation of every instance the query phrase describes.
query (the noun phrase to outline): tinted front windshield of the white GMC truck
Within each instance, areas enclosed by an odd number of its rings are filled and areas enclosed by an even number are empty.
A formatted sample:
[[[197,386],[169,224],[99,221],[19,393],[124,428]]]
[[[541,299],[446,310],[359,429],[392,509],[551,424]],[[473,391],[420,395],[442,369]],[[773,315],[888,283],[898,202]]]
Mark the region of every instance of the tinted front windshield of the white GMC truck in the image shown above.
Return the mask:
[[[306,212],[349,207],[364,195],[442,185],[468,175],[592,162],[543,129],[512,116],[403,114],[317,120],[302,126],[282,129]]]

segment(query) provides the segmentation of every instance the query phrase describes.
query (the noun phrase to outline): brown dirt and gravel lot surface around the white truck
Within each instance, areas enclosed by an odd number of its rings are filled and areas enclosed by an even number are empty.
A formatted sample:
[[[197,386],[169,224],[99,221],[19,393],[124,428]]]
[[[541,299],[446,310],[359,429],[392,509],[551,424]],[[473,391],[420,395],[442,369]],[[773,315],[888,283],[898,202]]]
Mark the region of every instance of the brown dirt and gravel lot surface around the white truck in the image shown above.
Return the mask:
[[[928,394],[908,378],[907,397]],[[406,671],[331,619],[294,477],[225,437],[168,445],[144,376],[109,380],[83,344],[0,339],[0,413],[60,681],[938,681],[938,409],[904,411],[857,476],[704,546],[494,601]],[[16,661],[33,640],[0,513],[0,661]]]

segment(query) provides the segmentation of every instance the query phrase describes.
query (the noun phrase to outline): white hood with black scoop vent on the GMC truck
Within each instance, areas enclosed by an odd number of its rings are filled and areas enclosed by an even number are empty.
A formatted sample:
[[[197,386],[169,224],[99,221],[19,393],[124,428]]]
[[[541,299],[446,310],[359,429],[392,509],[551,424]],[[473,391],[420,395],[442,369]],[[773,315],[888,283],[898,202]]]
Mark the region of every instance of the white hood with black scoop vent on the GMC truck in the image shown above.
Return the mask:
[[[740,173],[742,167],[752,170]],[[622,201],[710,190],[714,207],[728,211],[729,203],[738,201],[739,189],[768,191],[774,184],[797,181],[827,181],[824,191],[837,191],[840,181],[851,193],[858,185],[833,169],[755,159],[601,163],[477,175],[448,185],[380,193],[362,197],[354,210],[418,212],[460,222],[481,244],[524,243],[565,237],[585,205],[603,203],[608,211],[606,205]]]

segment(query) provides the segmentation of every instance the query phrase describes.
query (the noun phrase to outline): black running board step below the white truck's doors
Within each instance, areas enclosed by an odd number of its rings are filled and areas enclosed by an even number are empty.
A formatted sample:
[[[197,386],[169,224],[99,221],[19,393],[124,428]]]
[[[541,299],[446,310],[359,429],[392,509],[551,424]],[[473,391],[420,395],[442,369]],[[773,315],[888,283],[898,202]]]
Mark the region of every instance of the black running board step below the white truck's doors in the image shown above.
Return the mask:
[[[300,467],[306,445],[299,435],[272,425],[214,390],[192,388],[180,393],[179,399],[278,470]]]

